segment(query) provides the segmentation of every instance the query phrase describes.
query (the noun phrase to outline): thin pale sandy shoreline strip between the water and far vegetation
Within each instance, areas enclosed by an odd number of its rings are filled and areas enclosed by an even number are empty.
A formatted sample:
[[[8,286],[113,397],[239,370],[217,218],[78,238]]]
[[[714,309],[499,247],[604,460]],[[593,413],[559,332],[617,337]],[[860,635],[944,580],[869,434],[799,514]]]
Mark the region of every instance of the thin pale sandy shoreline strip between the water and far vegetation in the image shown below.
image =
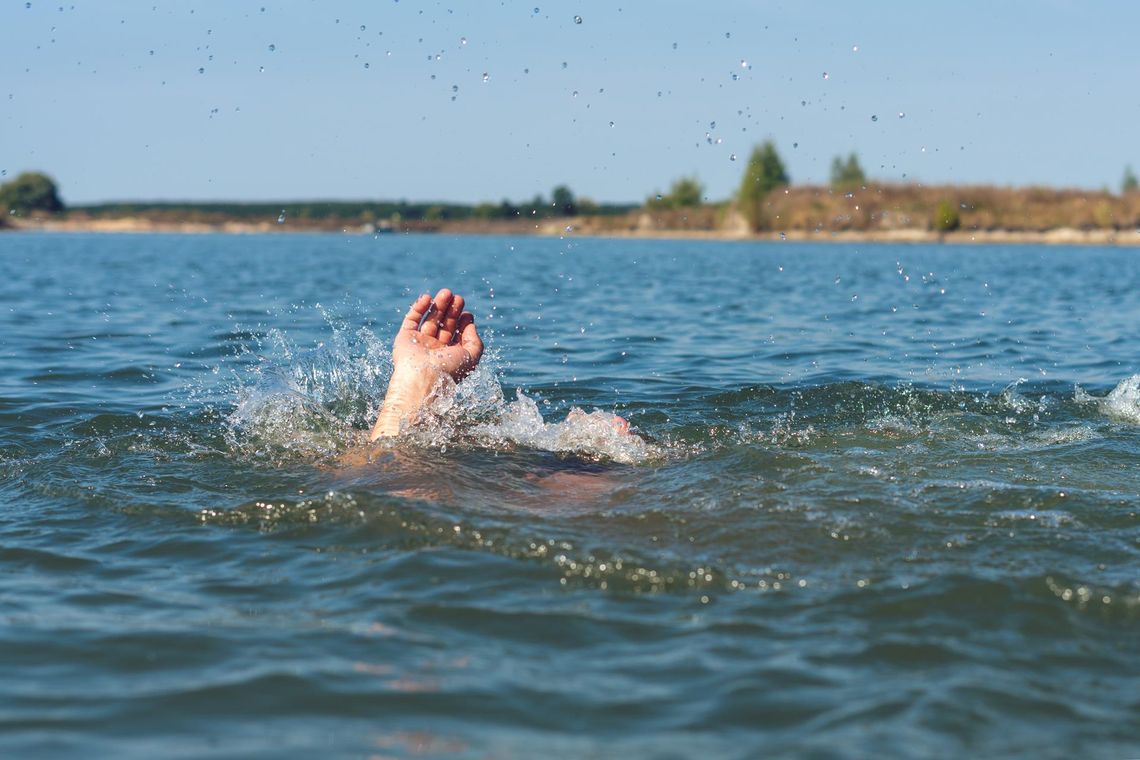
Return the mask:
[[[133,234],[179,234],[179,235],[259,235],[329,232],[341,235],[386,235],[386,234],[439,234],[439,235],[520,235],[536,237],[598,237],[614,239],[699,239],[726,242],[785,240],[797,243],[944,243],[948,245],[1035,244],[1035,245],[1124,245],[1140,246],[1140,229],[1075,229],[1059,227],[1048,230],[954,230],[937,232],[927,229],[890,230],[787,230],[748,232],[736,229],[694,230],[657,228],[614,228],[595,226],[591,218],[564,220],[528,221],[455,221],[432,226],[407,226],[396,230],[377,230],[370,226],[312,226],[271,222],[166,222],[141,216],[111,219],[41,219],[16,220],[10,231],[44,232],[133,232]]]

